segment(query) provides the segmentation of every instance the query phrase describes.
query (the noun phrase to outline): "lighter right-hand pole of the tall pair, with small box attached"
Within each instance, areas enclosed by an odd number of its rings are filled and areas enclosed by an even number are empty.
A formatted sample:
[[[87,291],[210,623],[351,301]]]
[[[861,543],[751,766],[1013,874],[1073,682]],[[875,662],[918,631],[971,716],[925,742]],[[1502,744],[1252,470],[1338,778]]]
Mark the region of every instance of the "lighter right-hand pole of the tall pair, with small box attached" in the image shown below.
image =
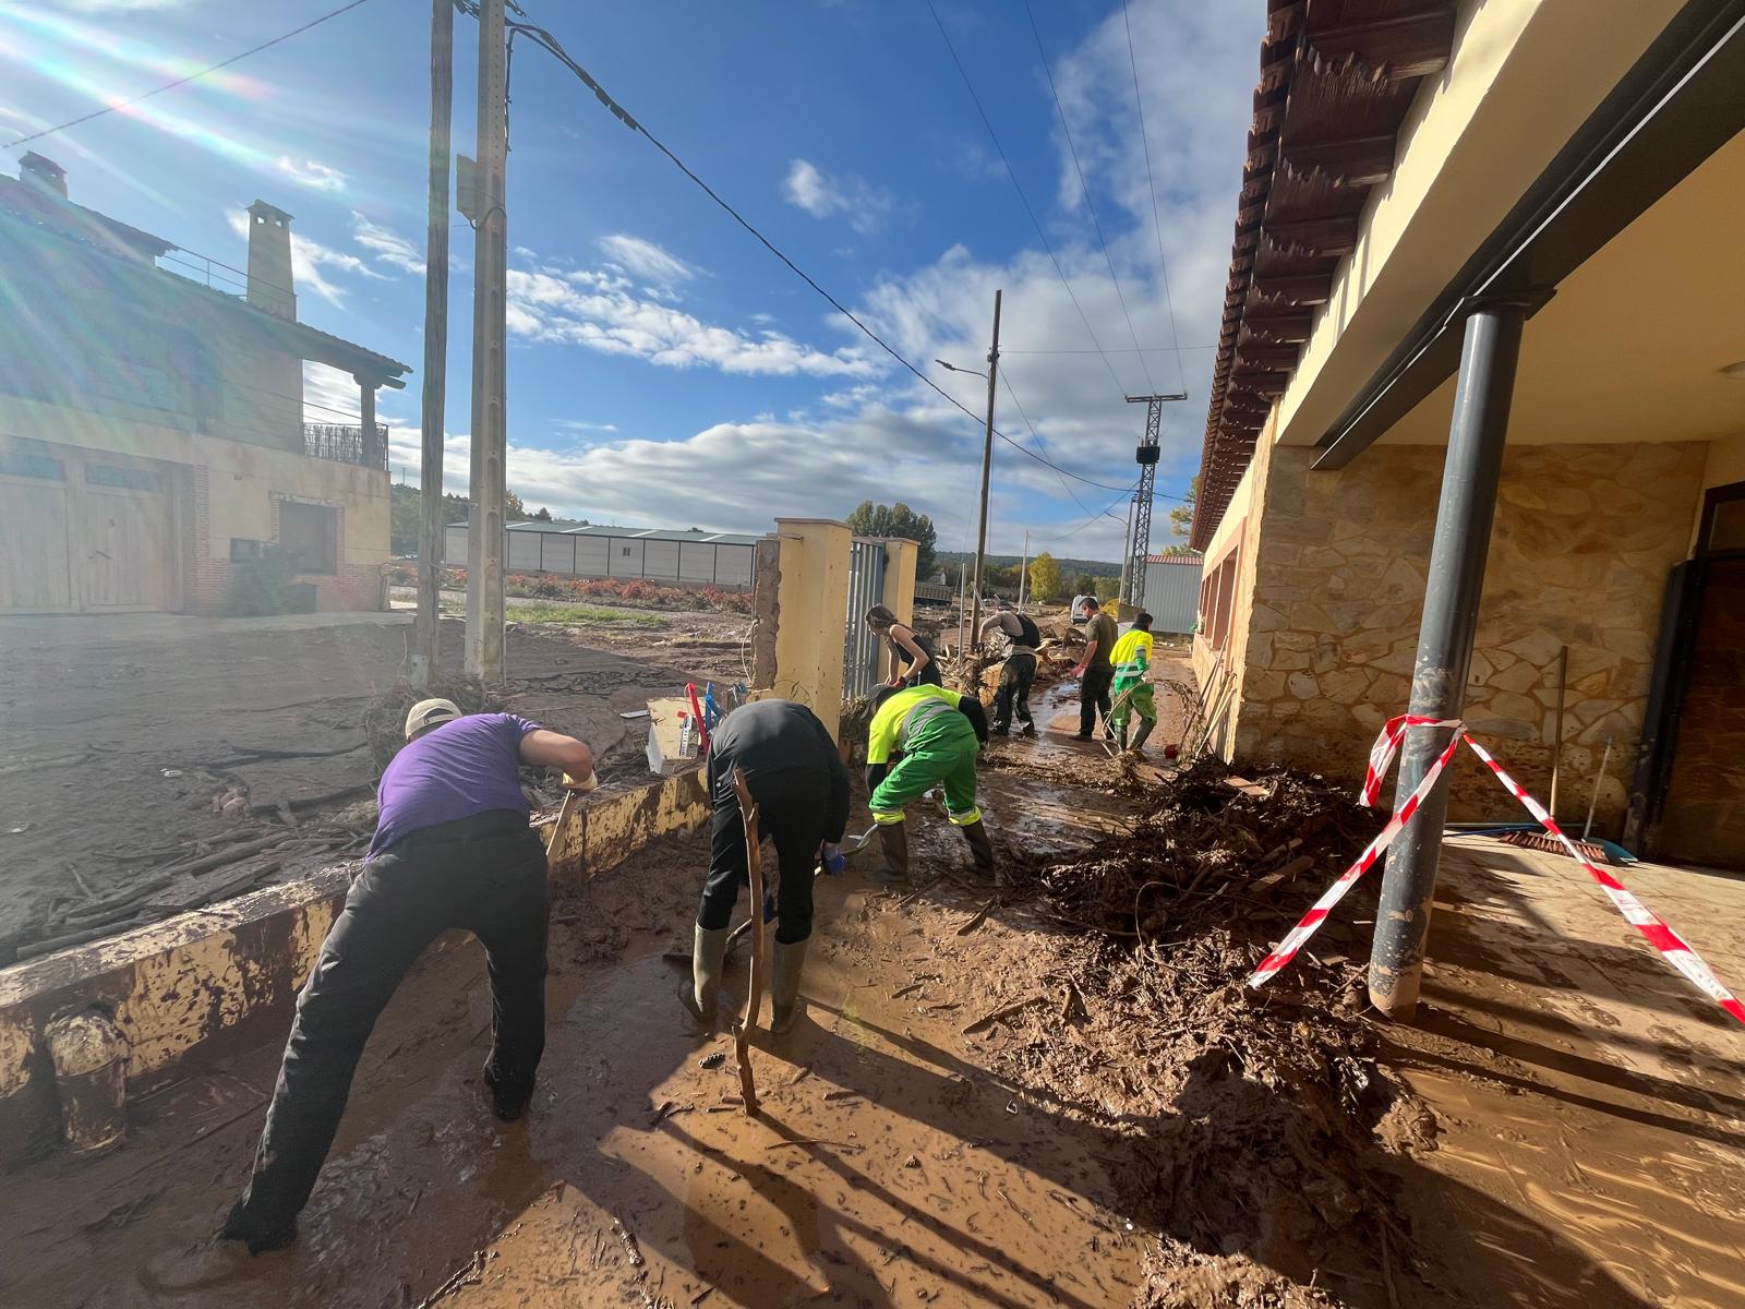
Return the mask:
[[[466,670],[503,682],[503,503],[508,426],[506,171],[510,154],[504,0],[478,5],[478,239],[473,250],[473,496],[466,532]]]

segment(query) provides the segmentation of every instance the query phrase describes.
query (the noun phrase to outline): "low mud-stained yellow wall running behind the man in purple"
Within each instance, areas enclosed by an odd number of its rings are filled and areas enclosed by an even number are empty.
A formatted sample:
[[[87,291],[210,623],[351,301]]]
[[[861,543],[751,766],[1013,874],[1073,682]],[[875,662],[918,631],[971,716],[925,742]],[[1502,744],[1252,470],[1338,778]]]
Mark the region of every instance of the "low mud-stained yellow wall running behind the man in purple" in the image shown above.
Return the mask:
[[[551,848],[553,881],[581,881],[649,841],[708,817],[688,770],[586,796]],[[49,1025],[99,1014],[119,1033],[129,1096],[168,1080],[195,1047],[222,1052],[262,1037],[314,967],[358,862],[0,969],[0,1166],[63,1141]]]

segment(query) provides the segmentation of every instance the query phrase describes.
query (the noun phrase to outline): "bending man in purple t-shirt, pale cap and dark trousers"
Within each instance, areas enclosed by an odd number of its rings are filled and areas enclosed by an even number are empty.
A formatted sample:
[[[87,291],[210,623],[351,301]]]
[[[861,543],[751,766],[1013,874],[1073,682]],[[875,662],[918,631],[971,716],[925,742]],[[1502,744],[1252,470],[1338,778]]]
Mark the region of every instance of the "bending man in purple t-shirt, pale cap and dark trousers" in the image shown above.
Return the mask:
[[[504,1122],[527,1112],[544,1052],[546,855],[527,826],[524,763],[593,785],[593,754],[513,714],[462,716],[421,700],[382,773],[375,840],[297,998],[248,1190],[220,1237],[250,1253],[297,1236],[297,1213],[333,1145],[370,1028],[407,969],[459,927],[485,946],[492,1047],[485,1086]]]

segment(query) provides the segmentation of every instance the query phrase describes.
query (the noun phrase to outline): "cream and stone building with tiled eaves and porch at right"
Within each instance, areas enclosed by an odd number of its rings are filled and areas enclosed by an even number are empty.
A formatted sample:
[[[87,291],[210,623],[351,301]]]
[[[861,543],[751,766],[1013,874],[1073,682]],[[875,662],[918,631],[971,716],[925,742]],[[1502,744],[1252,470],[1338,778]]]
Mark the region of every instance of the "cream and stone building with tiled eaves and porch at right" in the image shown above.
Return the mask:
[[[1745,5],[1345,10],[1269,3],[1192,534],[1213,740],[1354,782],[1412,705],[1541,798],[1557,764],[1576,827],[1742,867]],[[1450,812],[1527,817],[1464,752]]]

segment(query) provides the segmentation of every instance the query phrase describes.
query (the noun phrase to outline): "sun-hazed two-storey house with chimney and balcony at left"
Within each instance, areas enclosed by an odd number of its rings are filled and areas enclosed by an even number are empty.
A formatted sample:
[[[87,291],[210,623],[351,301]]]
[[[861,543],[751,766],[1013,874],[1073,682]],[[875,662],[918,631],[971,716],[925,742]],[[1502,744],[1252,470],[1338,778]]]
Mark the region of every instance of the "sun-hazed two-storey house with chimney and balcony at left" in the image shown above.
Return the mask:
[[[0,614],[223,614],[281,552],[302,602],[380,607],[375,393],[408,368],[298,323],[291,216],[248,213],[230,293],[52,161],[0,178]],[[359,421],[305,422],[305,360],[356,379]]]

